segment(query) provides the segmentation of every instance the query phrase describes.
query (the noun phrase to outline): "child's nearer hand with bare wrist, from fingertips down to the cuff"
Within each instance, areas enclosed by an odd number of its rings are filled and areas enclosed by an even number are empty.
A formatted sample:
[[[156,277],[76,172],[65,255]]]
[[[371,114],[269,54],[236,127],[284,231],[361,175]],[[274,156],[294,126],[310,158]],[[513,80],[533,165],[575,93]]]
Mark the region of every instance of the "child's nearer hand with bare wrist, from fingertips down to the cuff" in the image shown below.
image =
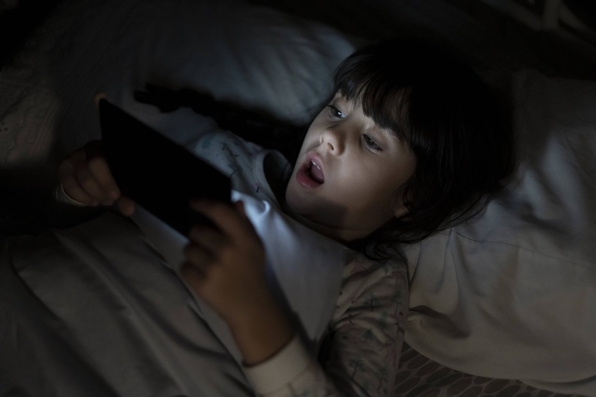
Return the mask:
[[[293,330],[269,292],[265,280],[265,249],[244,212],[207,202],[192,204],[219,229],[195,226],[184,249],[182,276],[226,321],[246,365],[279,351]]]

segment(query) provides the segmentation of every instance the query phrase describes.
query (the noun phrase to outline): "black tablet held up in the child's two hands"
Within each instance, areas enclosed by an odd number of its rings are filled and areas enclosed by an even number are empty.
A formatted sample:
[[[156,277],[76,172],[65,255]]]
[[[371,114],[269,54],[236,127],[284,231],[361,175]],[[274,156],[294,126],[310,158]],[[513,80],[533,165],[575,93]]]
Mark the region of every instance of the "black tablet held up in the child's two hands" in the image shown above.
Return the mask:
[[[103,154],[123,196],[183,235],[195,224],[213,225],[188,201],[230,203],[230,179],[105,98],[98,107]]]

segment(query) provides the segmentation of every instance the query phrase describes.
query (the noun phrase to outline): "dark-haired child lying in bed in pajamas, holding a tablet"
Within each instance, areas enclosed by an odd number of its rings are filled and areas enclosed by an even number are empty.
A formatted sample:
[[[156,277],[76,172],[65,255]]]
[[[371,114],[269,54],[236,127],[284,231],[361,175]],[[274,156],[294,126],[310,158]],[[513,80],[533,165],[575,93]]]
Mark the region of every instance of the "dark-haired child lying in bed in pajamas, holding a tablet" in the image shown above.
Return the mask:
[[[268,290],[265,250],[243,203],[192,203],[217,228],[191,229],[182,275],[229,325],[259,395],[394,395],[408,294],[403,263],[387,266],[392,247],[467,219],[511,172],[512,138],[496,100],[476,73],[430,47],[367,46],[343,61],[334,83],[289,178],[275,174],[287,166],[278,153],[262,156],[266,181],[254,192],[362,253],[344,268],[322,364]],[[60,165],[59,197],[116,203],[131,216],[134,203],[89,148]]]

